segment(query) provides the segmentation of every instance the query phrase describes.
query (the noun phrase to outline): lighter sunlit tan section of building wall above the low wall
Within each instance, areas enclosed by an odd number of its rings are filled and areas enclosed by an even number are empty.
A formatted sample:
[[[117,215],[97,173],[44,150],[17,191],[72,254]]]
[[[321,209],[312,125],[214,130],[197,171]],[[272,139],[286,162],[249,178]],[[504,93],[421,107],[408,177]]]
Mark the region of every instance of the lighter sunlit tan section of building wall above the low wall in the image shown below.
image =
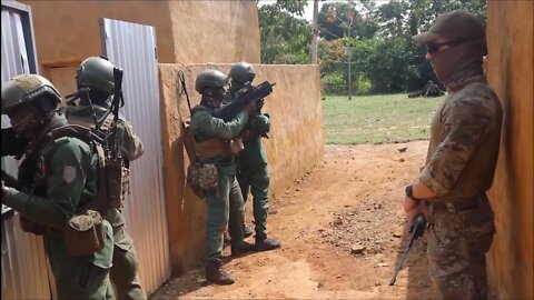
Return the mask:
[[[256,1],[170,1],[169,7],[172,62],[259,63]]]

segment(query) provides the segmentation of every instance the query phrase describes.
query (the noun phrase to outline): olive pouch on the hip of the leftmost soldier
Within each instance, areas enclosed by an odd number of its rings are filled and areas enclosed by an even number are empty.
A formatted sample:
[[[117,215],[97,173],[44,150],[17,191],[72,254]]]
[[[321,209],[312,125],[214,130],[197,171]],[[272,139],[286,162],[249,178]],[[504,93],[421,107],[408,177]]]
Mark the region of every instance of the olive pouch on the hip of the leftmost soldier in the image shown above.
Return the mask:
[[[106,231],[102,216],[95,210],[73,216],[63,228],[63,239],[72,257],[92,254],[103,249]]]

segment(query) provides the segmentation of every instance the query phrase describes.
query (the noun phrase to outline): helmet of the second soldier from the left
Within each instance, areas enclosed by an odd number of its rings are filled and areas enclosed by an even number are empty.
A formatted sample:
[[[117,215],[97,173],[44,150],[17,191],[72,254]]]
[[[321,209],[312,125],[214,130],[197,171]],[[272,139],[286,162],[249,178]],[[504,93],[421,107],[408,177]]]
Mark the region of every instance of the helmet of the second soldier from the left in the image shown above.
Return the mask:
[[[115,66],[103,57],[90,57],[76,70],[76,84],[108,94],[115,93]]]

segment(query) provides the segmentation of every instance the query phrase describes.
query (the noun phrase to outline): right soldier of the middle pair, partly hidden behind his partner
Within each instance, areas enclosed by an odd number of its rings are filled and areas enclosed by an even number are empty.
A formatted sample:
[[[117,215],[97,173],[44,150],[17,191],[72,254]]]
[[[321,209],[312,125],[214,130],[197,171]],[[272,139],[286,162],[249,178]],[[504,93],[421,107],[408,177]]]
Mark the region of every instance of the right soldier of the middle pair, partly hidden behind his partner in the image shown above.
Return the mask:
[[[231,86],[226,93],[225,100],[231,102],[236,99],[236,92],[251,83],[256,73],[253,66],[247,62],[234,63],[230,68],[229,78]],[[269,209],[269,172],[267,170],[267,154],[265,153],[261,138],[268,138],[270,129],[269,116],[260,113],[249,121],[244,134],[245,149],[238,157],[237,180],[241,189],[244,206],[248,198],[248,191],[253,194],[253,213],[256,230],[256,251],[273,250],[280,247],[280,242],[267,238],[267,213]],[[244,228],[246,230],[247,227]]]

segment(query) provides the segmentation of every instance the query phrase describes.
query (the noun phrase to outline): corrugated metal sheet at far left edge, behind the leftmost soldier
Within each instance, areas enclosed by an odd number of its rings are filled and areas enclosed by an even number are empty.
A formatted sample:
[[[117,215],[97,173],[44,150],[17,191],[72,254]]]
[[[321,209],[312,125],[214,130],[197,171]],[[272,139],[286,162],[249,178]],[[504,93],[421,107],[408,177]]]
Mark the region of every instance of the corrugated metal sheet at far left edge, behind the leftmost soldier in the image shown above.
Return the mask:
[[[2,2],[2,82],[29,73],[27,43],[20,13]],[[36,62],[32,62],[36,66]],[[2,128],[9,119],[2,116]],[[12,158],[2,158],[2,169],[17,172]],[[2,220],[2,299],[50,299],[48,262],[42,239],[22,232],[19,217]]]

